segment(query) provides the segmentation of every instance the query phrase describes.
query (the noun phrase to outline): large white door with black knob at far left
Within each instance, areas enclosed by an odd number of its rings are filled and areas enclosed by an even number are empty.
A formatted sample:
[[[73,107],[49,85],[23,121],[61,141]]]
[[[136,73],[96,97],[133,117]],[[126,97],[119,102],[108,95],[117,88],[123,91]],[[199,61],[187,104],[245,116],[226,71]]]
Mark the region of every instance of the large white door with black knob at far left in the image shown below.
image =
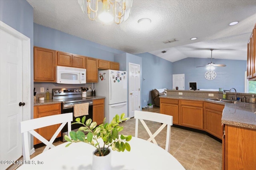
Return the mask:
[[[31,106],[27,104],[31,101],[28,97],[30,81],[27,80],[28,78],[23,79],[24,74],[28,73],[28,64],[30,65],[29,62],[23,66],[23,62],[27,62],[30,56],[28,52],[30,43],[24,45],[19,36],[21,33],[3,22],[0,24],[0,160],[17,160],[22,156],[20,121],[24,118],[24,111],[27,112],[28,107],[30,110]],[[30,42],[29,39],[28,41]],[[26,58],[24,61],[23,57]],[[30,71],[26,76],[30,79]],[[25,86],[24,80],[27,81]],[[24,89],[26,89],[25,93]],[[20,102],[25,103],[25,106],[19,106]],[[25,115],[28,117],[28,113]],[[8,166],[10,164],[1,164],[0,169],[6,169]]]

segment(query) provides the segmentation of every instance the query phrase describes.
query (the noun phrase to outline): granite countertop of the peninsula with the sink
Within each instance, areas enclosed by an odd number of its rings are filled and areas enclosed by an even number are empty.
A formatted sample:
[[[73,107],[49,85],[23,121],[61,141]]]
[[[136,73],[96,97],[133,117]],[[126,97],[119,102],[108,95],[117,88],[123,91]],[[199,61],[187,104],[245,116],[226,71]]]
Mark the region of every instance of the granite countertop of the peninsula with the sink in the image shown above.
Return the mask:
[[[198,100],[223,104],[222,123],[239,127],[256,129],[256,104],[238,102],[237,104],[208,100],[200,97],[191,96],[159,96],[160,98],[182,99],[182,100]]]

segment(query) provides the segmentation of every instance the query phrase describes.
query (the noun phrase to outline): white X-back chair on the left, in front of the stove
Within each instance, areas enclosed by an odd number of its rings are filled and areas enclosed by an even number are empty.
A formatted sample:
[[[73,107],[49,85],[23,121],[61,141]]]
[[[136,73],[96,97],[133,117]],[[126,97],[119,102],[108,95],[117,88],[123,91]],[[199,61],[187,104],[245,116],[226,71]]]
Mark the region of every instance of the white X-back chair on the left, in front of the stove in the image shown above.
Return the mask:
[[[49,148],[55,147],[52,143],[56,139],[57,135],[60,133],[62,128],[68,123],[68,136],[71,131],[71,121],[73,120],[73,113],[64,113],[64,114],[58,114],[58,115],[52,115],[52,116],[46,116],[46,117],[40,117],[36,119],[30,119],[26,121],[20,122],[20,131],[23,134],[23,159],[24,160],[30,160],[30,151],[29,151],[29,141],[28,141],[28,133],[42,141],[46,145],[45,149],[46,151]],[[57,131],[54,133],[50,141],[47,141],[44,137],[39,135],[34,129],[50,126],[50,125],[56,125],[62,123],[60,127],[57,129]]]

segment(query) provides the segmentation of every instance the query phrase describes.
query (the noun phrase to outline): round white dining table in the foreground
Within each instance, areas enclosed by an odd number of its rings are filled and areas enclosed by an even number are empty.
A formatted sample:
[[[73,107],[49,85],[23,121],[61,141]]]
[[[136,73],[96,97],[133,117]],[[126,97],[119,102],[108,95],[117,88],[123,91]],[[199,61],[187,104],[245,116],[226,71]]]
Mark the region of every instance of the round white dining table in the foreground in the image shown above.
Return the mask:
[[[128,152],[111,152],[112,170],[185,170],[169,152],[144,139],[132,137]],[[63,143],[42,152],[18,170],[91,170],[92,152],[87,143]]]

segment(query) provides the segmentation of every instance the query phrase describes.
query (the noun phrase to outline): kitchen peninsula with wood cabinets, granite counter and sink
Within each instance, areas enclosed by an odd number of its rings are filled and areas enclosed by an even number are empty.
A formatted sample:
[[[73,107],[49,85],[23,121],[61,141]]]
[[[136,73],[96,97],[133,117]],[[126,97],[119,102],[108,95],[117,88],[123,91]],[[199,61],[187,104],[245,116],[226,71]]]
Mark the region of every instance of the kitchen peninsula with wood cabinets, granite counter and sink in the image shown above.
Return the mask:
[[[173,124],[206,131],[222,139],[223,170],[256,167],[256,104],[219,101],[222,92],[166,90],[160,113],[173,116]],[[227,98],[235,93],[227,92]],[[251,94],[237,93],[237,97]],[[249,101],[249,100],[246,100]]]

